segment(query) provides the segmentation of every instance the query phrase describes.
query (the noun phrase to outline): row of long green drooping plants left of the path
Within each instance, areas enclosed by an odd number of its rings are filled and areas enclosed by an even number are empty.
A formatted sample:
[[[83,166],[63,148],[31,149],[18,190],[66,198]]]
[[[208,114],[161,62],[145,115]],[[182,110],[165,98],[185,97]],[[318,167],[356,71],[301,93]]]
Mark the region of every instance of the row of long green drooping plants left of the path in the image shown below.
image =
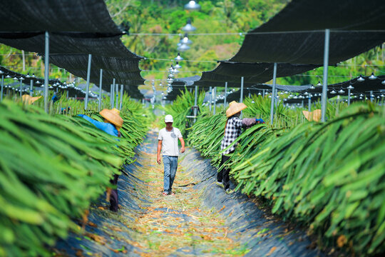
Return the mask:
[[[119,141],[78,116],[48,115],[39,106],[0,103],[0,256],[50,256],[47,246],[69,231],[134,161],[146,117],[124,104]],[[89,111],[93,119],[101,117]]]

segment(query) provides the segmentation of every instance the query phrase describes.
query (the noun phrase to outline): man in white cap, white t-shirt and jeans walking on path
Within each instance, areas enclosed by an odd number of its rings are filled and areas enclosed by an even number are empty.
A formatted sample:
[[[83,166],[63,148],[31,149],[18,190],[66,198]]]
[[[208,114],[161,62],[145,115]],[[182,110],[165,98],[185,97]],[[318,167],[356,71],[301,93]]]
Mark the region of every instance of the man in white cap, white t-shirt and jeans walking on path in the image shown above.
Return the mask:
[[[163,155],[163,165],[165,166],[163,178],[163,196],[173,196],[173,183],[178,168],[178,138],[182,148],[180,152],[185,152],[185,141],[183,140],[180,130],[173,127],[173,116],[170,114],[165,116],[165,128],[160,129],[158,136],[158,157],[157,162],[160,164],[160,150]]]

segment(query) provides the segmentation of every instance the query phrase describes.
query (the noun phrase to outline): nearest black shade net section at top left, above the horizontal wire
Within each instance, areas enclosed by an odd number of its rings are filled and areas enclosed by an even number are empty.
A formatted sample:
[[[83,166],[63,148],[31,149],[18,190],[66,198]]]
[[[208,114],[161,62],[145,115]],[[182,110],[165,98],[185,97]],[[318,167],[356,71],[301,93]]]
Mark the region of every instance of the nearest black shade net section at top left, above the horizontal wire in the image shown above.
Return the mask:
[[[0,31],[121,34],[103,0],[1,0]]]

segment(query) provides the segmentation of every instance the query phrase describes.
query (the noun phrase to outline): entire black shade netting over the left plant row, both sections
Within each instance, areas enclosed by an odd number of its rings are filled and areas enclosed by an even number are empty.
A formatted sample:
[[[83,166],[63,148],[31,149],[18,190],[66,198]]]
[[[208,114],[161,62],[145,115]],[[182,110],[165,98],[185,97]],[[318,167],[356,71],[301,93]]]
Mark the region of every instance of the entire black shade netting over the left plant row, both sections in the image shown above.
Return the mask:
[[[103,69],[103,89],[109,91],[116,79],[130,96],[143,96],[133,89],[144,83],[139,69],[143,57],[124,46],[123,31],[103,0],[6,0],[0,7],[1,43],[43,56],[48,31],[51,64],[87,79],[88,54],[92,54],[91,83],[99,84]]]

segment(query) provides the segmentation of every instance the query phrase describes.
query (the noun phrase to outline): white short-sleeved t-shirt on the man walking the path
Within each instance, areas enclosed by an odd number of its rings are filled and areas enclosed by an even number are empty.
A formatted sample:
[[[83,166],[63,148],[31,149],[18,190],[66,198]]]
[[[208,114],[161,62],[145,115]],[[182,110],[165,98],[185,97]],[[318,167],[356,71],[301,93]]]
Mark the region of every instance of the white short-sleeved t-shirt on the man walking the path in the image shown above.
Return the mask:
[[[178,138],[182,137],[182,133],[177,128],[171,131],[163,128],[159,131],[158,140],[162,141],[163,156],[179,156]]]

